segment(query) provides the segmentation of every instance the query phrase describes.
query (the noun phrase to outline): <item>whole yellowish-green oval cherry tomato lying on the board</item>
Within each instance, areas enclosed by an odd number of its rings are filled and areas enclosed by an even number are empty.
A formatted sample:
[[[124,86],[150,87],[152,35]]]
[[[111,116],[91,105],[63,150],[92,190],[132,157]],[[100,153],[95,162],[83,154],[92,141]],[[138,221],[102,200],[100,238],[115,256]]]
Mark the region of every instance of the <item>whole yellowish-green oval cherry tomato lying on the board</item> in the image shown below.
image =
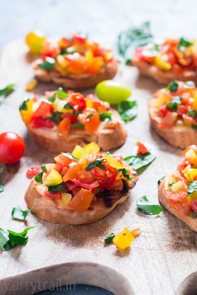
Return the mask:
[[[131,89],[128,86],[113,80],[98,83],[95,92],[100,100],[108,101],[110,104],[119,104],[131,95]]]

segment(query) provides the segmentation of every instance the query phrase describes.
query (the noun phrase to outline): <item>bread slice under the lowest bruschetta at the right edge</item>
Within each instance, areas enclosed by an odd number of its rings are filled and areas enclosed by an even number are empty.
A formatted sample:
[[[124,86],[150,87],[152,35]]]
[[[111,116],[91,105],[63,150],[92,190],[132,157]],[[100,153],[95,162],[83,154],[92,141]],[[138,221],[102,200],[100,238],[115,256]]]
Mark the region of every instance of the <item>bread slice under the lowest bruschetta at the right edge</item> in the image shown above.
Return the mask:
[[[184,207],[182,207],[180,203],[169,201],[166,198],[169,176],[170,175],[166,176],[159,184],[159,201],[168,211],[185,222],[191,230],[197,232],[197,218],[192,218],[191,216],[186,215],[184,213]]]

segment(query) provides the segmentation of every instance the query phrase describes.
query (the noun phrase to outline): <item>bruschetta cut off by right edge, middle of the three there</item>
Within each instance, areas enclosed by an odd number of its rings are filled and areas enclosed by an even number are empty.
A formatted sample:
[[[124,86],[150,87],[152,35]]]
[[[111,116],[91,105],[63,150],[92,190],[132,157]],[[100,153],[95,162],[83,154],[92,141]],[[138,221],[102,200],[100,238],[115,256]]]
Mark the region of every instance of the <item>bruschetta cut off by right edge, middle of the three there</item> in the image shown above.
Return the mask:
[[[174,147],[197,145],[197,88],[193,81],[172,80],[149,102],[152,127]]]

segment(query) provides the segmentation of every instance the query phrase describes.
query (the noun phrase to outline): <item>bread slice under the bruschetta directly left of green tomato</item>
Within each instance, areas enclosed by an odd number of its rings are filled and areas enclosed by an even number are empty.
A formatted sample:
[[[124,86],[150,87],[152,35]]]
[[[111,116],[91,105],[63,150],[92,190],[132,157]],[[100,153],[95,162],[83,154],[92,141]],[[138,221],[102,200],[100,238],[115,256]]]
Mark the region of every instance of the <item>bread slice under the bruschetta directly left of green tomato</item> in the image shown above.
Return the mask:
[[[98,130],[88,133],[84,128],[73,128],[68,138],[62,139],[58,137],[57,127],[51,129],[46,127],[33,128],[32,124],[27,125],[27,129],[33,139],[46,150],[53,153],[71,153],[76,145],[84,147],[89,142],[96,142],[104,151],[118,148],[123,145],[127,138],[126,130],[123,127],[120,115],[114,109],[112,112],[112,120],[114,124],[101,122]]]

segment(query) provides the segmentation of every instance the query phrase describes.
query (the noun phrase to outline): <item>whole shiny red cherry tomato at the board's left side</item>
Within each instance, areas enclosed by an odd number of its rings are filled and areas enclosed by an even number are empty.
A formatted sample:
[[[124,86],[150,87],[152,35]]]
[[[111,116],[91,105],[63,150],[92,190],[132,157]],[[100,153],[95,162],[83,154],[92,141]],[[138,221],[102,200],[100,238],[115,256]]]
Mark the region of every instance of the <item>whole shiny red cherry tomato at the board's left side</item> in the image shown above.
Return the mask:
[[[23,139],[14,132],[0,134],[0,162],[15,164],[22,157],[25,150]]]

